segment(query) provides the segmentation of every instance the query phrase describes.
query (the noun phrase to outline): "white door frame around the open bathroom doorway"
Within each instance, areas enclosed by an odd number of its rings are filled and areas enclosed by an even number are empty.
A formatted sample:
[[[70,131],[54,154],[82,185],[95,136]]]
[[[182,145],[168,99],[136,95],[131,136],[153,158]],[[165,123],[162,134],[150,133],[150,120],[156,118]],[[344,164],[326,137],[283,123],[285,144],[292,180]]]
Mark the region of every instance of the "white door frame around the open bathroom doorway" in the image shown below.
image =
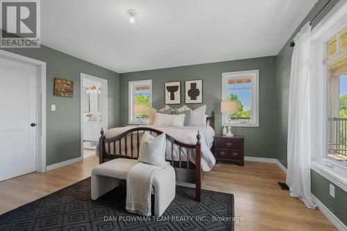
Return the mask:
[[[89,74],[85,74],[82,73],[80,74],[81,76],[81,93],[80,93],[80,97],[81,97],[81,157],[83,157],[83,79],[88,79],[88,80],[94,80],[97,82],[101,83],[101,89],[104,89],[101,92],[101,95],[103,97],[103,111],[102,111],[102,118],[103,121],[101,121],[101,128],[103,128],[103,130],[107,130],[108,129],[108,80],[104,79],[104,78],[99,78],[96,76],[91,76]]]

